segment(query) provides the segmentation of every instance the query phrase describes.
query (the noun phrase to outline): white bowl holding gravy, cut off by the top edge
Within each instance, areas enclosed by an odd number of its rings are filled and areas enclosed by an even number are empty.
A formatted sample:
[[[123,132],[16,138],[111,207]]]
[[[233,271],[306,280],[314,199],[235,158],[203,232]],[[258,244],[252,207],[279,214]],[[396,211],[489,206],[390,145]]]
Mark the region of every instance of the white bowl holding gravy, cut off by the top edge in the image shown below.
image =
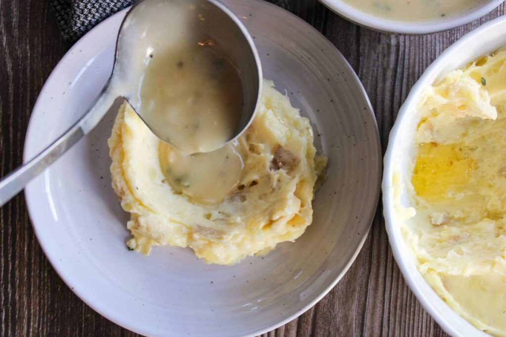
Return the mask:
[[[437,20],[425,22],[403,22],[379,18],[364,13],[341,0],[320,0],[321,3],[333,12],[361,26],[400,34],[427,34],[459,27],[484,16],[499,6],[503,1],[504,0],[480,0],[474,7],[457,15],[449,15]]]

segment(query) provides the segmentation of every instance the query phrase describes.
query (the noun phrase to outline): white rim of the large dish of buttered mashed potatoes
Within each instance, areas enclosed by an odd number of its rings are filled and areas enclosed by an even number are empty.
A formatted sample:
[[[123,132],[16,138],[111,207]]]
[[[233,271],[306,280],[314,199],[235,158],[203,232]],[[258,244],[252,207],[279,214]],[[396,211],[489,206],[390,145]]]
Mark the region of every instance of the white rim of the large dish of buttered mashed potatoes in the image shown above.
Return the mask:
[[[394,174],[394,163],[399,161],[399,154],[394,153],[394,143],[397,141],[398,134],[401,131],[403,120],[407,119],[416,104],[416,100],[419,97],[420,92],[427,86],[432,85],[442,74],[446,73],[448,69],[445,69],[447,60],[457,51],[461,46],[472,43],[476,39],[477,35],[485,34],[487,31],[495,29],[497,26],[506,27],[506,16],[502,16],[491,20],[476,28],[475,30],[467,33],[448,47],[436,60],[425,70],[424,74],[418,79],[418,81],[411,88],[408,97],[404,104],[399,110],[397,119],[392,127],[389,136],[389,145],[384,157],[384,173],[382,181],[383,191],[383,215],[385,217],[385,227],[387,229],[390,246],[394,255],[395,261],[399,266],[405,282],[418,299],[422,307],[436,320],[436,322],[443,328],[444,331],[452,336],[473,336],[473,337],[485,337],[489,334],[477,329],[466,319],[462,318],[456,312],[454,312],[432,289],[432,287],[423,279],[423,276],[419,273],[416,268],[412,254],[406,254],[406,246],[402,233],[400,233],[400,227],[398,220],[396,219],[396,211],[394,204],[394,188],[393,188],[393,174]],[[506,36],[506,33],[503,34]],[[506,39],[506,37],[505,37]],[[495,48],[497,49],[497,48]],[[467,61],[471,61],[481,55],[493,52],[495,50],[483,50],[476,56],[471,56]],[[454,69],[458,69],[465,63],[460,65],[454,65]],[[446,70],[446,71],[445,71]],[[397,156],[397,157],[396,157]],[[416,278],[416,280],[415,280]],[[420,280],[421,278],[421,280]],[[428,299],[430,296],[431,300]],[[444,311],[443,311],[444,310]],[[449,320],[456,322],[451,324]],[[472,334],[470,334],[470,331]]]

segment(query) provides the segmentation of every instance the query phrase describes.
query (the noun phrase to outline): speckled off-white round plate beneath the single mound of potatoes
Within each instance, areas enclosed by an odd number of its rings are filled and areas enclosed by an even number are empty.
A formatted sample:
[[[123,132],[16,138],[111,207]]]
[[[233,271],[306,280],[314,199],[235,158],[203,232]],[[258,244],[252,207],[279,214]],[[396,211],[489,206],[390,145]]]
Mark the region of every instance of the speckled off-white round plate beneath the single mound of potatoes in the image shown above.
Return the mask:
[[[128,216],[111,188],[107,138],[116,111],[32,181],[35,233],[61,278],[108,319],[146,335],[238,336],[266,332],[321,299],[358,254],[376,209],[381,151],[365,91],[315,29],[262,1],[225,2],[258,46],[265,77],[309,116],[328,178],[314,221],[295,243],[233,266],[206,265],[189,249],[126,250]],[[33,109],[29,159],[86,110],[109,76],[120,12],[77,42]]]

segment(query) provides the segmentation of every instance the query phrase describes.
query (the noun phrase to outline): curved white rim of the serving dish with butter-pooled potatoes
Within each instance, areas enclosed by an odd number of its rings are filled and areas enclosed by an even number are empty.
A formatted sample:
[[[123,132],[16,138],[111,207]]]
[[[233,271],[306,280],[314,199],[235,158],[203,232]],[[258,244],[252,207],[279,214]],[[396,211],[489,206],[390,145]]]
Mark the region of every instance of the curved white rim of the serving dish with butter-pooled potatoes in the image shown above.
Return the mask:
[[[423,90],[428,84],[426,83],[430,78],[434,77],[434,75],[441,75],[440,74],[440,67],[445,62],[445,60],[451,56],[455,50],[457,50],[461,45],[464,45],[466,43],[471,42],[476,35],[489,30],[493,29],[494,26],[503,24],[503,22],[506,21],[506,16],[498,17],[494,20],[491,20],[479,28],[474,29],[473,31],[467,33],[466,35],[462,36],[460,39],[458,39],[455,43],[453,43],[451,46],[449,46],[443,53],[441,53],[440,56],[436,58],[436,60],[424,71],[424,74],[416,81],[416,83],[413,85],[411,90],[409,91],[408,97],[402,104],[401,108],[399,109],[399,113],[397,115],[397,119],[394,123],[394,126],[392,127],[392,130],[390,131],[389,135],[389,141],[388,141],[388,147],[387,151],[385,153],[384,157],[384,172],[383,172],[383,181],[382,181],[382,191],[383,191],[383,215],[385,217],[385,227],[387,229],[387,234],[390,242],[390,247],[392,248],[392,253],[394,255],[395,261],[397,262],[397,265],[399,266],[399,269],[401,270],[401,273],[404,277],[404,281],[407,283],[415,297],[420,302],[421,306],[431,315],[432,318],[443,328],[444,331],[449,333],[452,336],[461,336],[459,330],[457,330],[453,325],[448,323],[448,321],[444,318],[444,316],[437,313],[433,303],[431,303],[427,297],[424,295],[424,293],[420,290],[420,287],[413,279],[413,275],[409,272],[409,268],[407,265],[407,261],[411,261],[410,256],[406,256],[406,254],[401,251],[399,248],[399,243],[397,242],[395,238],[395,234],[393,233],[394,226],[397,224],[397,220],[395,220],[396,211],[394,208],[394,201],[393,201],[393,169],[392,165],[395,161],[395,154],[394,154],[394,147],[393,143],[395,138],[397,137],[402,121],[409,113],[409,108],[413,104],[413,102],[419,97],[419,94],[421,90]],[[432,84],[432,82],[430,83]],[[430,85],[429,84],[429,85]],[[401,240],[404,239],[402,236],[400,238]],[[416,272],[421,276],[418,269],[416,269]],[[424,280],[424,282],[426,282]],[[427,283],[427,282],[426,282]],[[428,283],[427,283],[428,285]],[[434,292],[434,290],[431,287],[431,290]],[[435,292],[434,292],[435,294]],[[440,298],[438,296],[438,298]],[[441,299],[441,301],[443,301]],[[442,302],[444,303],[444,302]],[[445,304],[448,306],[447,304]],[[451,312],[455,313],[453,309],[451,309],[448,306],[448,309],[451,310]],[[458,315],[455,313],[455,315]],[[459,316],[462,322],[468,322],[465,318]],[[476,332],[483,332],[476,327],[473,326],[473,328],[476,329]]]

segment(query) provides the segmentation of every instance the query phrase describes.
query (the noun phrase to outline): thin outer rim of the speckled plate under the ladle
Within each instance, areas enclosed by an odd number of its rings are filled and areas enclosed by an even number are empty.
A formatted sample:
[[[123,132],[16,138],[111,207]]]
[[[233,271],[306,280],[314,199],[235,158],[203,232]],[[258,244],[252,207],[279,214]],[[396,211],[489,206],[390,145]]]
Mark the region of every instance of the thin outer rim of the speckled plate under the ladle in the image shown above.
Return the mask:
[[[268,4],[268,5],[275,7],[275,5],[272,5],[272,4]],[[111,18],[112,17],[117,17],[117,16],[124,16],[125,13],[126,13],[126,11],[128,11],[128,9],[129,8],[126,8],[126,9],[124,9],[124,10],[122,10],[122,11],[114,14],[113,16],[111,16]],[[308,29],[310,29],[312,32],[314,32],[314,34],[318,34],[318,35],[322,36],[322,34],[318,30],[316,30],[314,27],[312,27],[311,25],[309,25],[308,23],[306,23],[301,18],[297,17],[296,15],[294,15],[294,14],[288,12],[288,11],[285,11],[285,13],[286,13],[286,15],[291,16],[295,21],[298,21],[300,24],[306,25]],[[88,42],[88,41],[93,41],[93,40],[100,40],[100,36],[101,36],[101,34],[104,33],[104,31],[105,31],[105,33],[108,33],[107,30],[111,28],[110,25],[109,25],[109,21],[110,21],[111,18],[108,18],[108,19],[104,20],[99,25],[97,25],[95,28],[93,28],[90,32],[88,32],[85,36],[81,37],[81,39],[79,39],[71,47],[71,49],[63,56],[62,60],[57,64],[57,66],[55,67],[55,69],[53,70],[53,72],[51,73],[51,75],[49,76],[49,78],[47,79],[46,83],[50,82],[50,80],[52,79],[52,77],[54,76],[54,74],[56,72],[58,72],[58,70],[61,68],[62,61],[64,59],[66,59],[67,57],[69,57],[72,53],[75,53],[79,49],[81,49],[82,48],[82,44],[84,44],[85,41]],[[335,53],[336,53],[336,55],[339,56],[339,57],[341,57],[346,62],[346,59],[341,54],[341,52],[339,52],[339,50],[336,49],[336,47],[330,41],[328,41],[327,39],[325,39],[325,41],[328,44],[328,46],[330,47],[330,49],[334,50]],[[368,113],[369,113],[369,115],[371,117],[371,121],[373,122],[373,125],[374,125],[374,135],[371,135],[371,136],[374,137],[374,142],[376,143],[376,151],[375,152],[376,152],[377,158],[379,159],[379,158],[382,157],[381,142],[379,141],[379,131],[378,131],[378,128],[377,128],[377,122],[376,122],[376,119],[375,119],[375,115],[374,115],[374,112],[373,112],[370,100],[368,98],[368,95],[367,95],[367,93],[366,93],[366,91],[365,91],[365,89],[364,89],[361,81],[359,80],[359,78],[356,75],[356,73],[353,70],[353,68],[349,65],[348,62],[346,62],[346,66],[347,66],[347,68],[348,68],[348,70],[350,72],[350,75],[352,75],[353,81],[360,88],[361,94],[363,95],[363,98],[364,98],[364,102],[366,103],[366,108],[367,108]],[[46,84],[45,84],[45,86],[46,86]],[[44,92],[44,91],[45,91],[45,87],[43,87],[40,92]],[[35,111],[35,110],[37,110],[39,108],[40,108],[39,107],[39,100],[37,99],[37,102],[34,105],[33,111]],[[24,146],[24,149],[23,149],[23,161],[24,162],[26,162],[27,160],[30,159],[30,157],[27,156],[27,153],[28,153],[27,152],[27,148],[28,148],[28,146],[32,142],[31,141],[31,134],[33,133],[33,130],[32,130],[33,124],[34,123],[32,122],[32,119],[30,118],[30,121],[28,123],[27,133],[26,133],[25,146]],[[377,161],[377,168],[376,168],[376,177],[375,177],[375,180],[377,181],[377,183],[374,186],[371,186],[371,194],[374,196],[375,207],[370,210],[369,214],[366,214],[366,216],[364,216],[364,219],[366,220],[366,222],[369,225],[367,227],[367,230],[363,232],[363,236],[362,236],[362,238],[361,238],[361,240],[359,242],[359,245],[357,246],[357,248],[353,252],[353,254],[351,254],[351,259],[346,264],[345,268],[341,272],[337,273],[333,277],[334,280],[331,283],[329,283],[324,288],[324,290],[317,297],[315,297],[312,301],[310,301],[310,303],[308,305],[304,306],[300,310],[292,312],[286,318],[278,321],[275,324],[272,324],[268,328],[264,328],[262,330],[255,331],[254,333],[250,334],[251,336],[267,333],[267,332],[269,332],[269,331],[271,331],[273,329],[276,329],[276,328],[278,328],[278,327],[280,327],[280,326],[282,326],[282,325],[290,322],[291,320],[299,317],[301,314],[303,314],[304,312],[306,312],[307,310],[309,310],[310,308],[312,308],[316,303],[318,303],[342,279],[342,277],[349,270],[349,268],[351,267],[351,265],[355,261],[357,255],[359,254],[360,250],[362,249],[362,247],[364,245],[364,242],[367,239],[367,236],[368,236],[368,233],[369,233],[372,221],[373,221],[373,219],[374,219],[374,217],[376,215],[377,202],[379,201],[379,194],[381,192],[380,191],[381,174],[382,174],[382,162],[381,162],[381,160],[378,160]],[[51,263],[51,265],[53,266],[54,270],[57,272],[57,274],[60,276],[60,278],[65,282],[65,284],[72,290],[72,292],[74,294],[76,294],[83,302],[85,302],[93,310],[95,310],[96,312],[98,312],[100,315],[104,316],[108,320],[114,322],[115,324],[118,324],[118,325],[120,325],[120,326],[122,326],[122,327],[124,327],[126,329],[129,329],[131,331],[134,331],[136,333],[147,334],[146,331],[143,331],[142,329],[139,329],[139,328],[135,327],[134,325],[129,324],[129,322],[126,322],[120,316],[117,316],[115,313],[113,313],[113,312],[107,312],[107,311],[103,310],[102,308],[100,308],[99,306],[94,305],[93,303],[91,303],[90,301],[88,301],[85,292],[83,290],[81,290],[81,288],[74,287],[74,284],[72,283],[71,278],[67,275],[67,273],[65,272],[65,270],[63,270],[62,268],[59,268],[57,266],[57,264],[54,263],[54,261],[55,261],[54,259],[56,257],[53,256],[52,252],[48,249],[48,247],[50,247],[50,244],[49,243],[44,243],[44,242],[42,242],[40,240],[40,230],[41,230],[41,228],[44,228],[44,224],[38,223],[37,215],[33,211],[33,209],[35,208],[34,205],[36,204],[37,201],[34,198],[32,198],[32,195],[30,194],[29,190],[25,190],[25,199],[26,199],[26,205],[27,205],[27,209],[28,209],[28,214],[29,214],[30,220],[32,222],[32,226],[33,226],[35,235],[37,237],[37,240],[40,243],[40,247],[44,251],[45,255],[48,257],[48,260]],[[37,223],[37,225],[35,225],[35,223]]]

